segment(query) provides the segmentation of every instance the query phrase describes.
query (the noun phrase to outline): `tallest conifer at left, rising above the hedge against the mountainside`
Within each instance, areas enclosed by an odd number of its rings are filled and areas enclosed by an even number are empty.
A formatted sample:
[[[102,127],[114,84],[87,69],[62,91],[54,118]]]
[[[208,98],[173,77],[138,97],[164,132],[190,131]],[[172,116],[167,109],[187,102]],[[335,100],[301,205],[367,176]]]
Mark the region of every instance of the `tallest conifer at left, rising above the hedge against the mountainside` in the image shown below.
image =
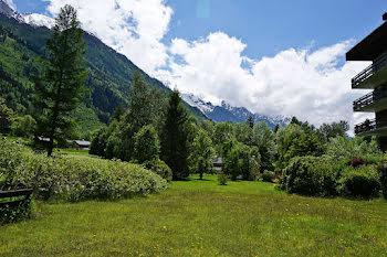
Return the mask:
[[[85,51],[76,10],[66,4],[55,19],[52,38],[46,43],[48,58],[42,60],[43,72],[35,79],[36,105],[42,109],[38,132],[50,138],[49,157],[54,140],[63,140],[73,125],[71,114],[87,77]]]

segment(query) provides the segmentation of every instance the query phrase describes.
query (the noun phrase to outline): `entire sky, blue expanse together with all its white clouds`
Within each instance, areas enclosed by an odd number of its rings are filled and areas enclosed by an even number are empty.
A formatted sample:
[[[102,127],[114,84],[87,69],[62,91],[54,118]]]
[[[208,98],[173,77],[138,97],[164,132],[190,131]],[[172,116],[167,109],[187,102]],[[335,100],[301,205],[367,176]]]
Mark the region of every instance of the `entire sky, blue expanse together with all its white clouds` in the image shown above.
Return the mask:
[[[11,0],[8,0],[11,1]],[[386,0],[13,0],[19,12],[79,10],[86,31],[149,75],[205,100],[318,126],[367,94],[351,78],[369,63],[345,53],[383,23]]]

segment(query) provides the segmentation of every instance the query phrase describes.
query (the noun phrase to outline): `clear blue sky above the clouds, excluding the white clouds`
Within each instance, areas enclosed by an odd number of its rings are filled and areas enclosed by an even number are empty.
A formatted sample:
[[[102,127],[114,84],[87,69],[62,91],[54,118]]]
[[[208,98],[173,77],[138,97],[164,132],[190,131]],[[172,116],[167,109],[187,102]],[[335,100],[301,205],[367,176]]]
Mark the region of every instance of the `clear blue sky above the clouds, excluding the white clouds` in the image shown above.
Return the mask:
[[[42,0],[13,0],[20,12],[44,13]],[[385,0],[168,0],[174,9],[169,32],[196,40],[222,31],[249,45],[245,54],[273,56],[287,47],[315,47],[363,39],[381,23]]]

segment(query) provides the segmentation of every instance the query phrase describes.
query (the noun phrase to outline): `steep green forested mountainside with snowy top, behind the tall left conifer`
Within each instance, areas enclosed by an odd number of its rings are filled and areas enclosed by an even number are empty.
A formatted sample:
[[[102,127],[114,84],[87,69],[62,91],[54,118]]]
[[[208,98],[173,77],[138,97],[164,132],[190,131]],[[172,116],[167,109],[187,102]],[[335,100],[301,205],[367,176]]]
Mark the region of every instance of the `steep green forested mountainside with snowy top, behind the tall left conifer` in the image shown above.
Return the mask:
[[[31,74],[38,74],[39,58],[45,56],[45,42],[51,36],[52,20],[40,14],[19,14],[0,0],[0,96],[20,115],[33,115]],[[126,56],[85,32],[86,61],[90,75],[85,87],[90,94],[74,116],[82,131],[106,124],[115,108],[128,103],[133,74],[140,72],[146,82],[165,94],[170,89],[150,77]],[[201,111],[184,103],[190,115],[205,119]]]

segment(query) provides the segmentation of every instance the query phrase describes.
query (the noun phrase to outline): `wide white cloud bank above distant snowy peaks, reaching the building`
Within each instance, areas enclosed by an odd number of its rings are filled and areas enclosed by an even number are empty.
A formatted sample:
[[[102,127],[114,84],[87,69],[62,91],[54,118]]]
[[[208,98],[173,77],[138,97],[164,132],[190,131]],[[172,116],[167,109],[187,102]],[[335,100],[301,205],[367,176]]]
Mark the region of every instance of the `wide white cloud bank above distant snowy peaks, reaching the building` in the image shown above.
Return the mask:
[[[175,39],[170,69],[158,76],[217,104],[226,100],[254,113],[296,116],[317,126],[341,119],[354,125],[364,115],[353,115],[352,101],[367,92],[352,90],[351,78],[367,63],[343,63],[352,44],[289,49],[254,61],[243,55],[243,42],[222,32],[195,42]]]

